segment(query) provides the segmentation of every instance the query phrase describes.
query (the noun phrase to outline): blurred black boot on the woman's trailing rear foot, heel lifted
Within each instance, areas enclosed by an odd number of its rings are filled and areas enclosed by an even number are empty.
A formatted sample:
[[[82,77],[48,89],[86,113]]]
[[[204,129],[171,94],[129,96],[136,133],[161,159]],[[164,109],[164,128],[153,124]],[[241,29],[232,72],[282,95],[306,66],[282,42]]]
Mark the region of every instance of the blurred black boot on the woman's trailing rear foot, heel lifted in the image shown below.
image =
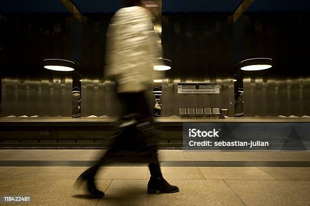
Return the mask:
[[[76,179],[74,185],[76,187],[80,187],[84,181],[87,181],[87,190],[89,193],[92,195],[94,198],[102,198],[104,197],[104,192],[98,190],[96,188],[95,180],[94,180],[94,175],[91,174],[91,172],[95,172],[98,169],[96,167],[90,168],[89,170],[85,171],[82,173],[78,179]]]

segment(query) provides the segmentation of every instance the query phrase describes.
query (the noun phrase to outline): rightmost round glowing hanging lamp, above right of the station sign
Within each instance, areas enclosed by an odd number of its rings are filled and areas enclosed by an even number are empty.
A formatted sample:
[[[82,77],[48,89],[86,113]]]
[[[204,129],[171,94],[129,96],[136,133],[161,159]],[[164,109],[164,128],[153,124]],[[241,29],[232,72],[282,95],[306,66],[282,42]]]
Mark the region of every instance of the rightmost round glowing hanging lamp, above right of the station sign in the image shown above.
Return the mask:
[[[244,71],[258,71],[269,69],[272,67],[272,59],[270,58],[254,58],[240,62],[240,69]]]

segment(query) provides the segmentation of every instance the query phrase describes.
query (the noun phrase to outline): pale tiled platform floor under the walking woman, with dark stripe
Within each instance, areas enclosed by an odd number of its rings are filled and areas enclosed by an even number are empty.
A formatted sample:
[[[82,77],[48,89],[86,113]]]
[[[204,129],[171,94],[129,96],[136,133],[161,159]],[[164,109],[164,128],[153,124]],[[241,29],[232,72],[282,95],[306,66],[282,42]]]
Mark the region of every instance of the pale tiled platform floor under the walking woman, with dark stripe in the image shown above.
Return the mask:
[[[92,199],[73,183],[100,153],[2,149],[0,196],[30,195],[29,205],[310,205],[309,151],[160,150],[163,175],[180,192],[147,194],[146,165],[114,164],[96,177],[105,197]]]

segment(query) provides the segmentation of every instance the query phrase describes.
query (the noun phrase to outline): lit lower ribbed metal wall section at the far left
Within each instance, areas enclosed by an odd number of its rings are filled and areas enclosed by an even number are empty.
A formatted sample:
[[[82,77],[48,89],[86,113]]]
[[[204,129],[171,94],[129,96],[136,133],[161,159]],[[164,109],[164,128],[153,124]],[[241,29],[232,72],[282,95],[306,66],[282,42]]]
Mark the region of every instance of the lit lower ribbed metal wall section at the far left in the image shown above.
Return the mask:
[[[3,77],[2,117],[72,117],[72,77]]]

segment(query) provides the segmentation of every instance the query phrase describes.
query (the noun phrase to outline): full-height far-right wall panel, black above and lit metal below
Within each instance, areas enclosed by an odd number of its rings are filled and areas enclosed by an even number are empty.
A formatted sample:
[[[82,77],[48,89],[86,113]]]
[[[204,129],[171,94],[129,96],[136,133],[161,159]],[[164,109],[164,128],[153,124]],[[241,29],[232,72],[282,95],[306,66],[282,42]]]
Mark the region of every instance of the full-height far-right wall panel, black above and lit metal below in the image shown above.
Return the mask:
[[[273,67],[244,72],[244,117],[309,117],[308,12],[245,13],[243,57],[268,57]]]

